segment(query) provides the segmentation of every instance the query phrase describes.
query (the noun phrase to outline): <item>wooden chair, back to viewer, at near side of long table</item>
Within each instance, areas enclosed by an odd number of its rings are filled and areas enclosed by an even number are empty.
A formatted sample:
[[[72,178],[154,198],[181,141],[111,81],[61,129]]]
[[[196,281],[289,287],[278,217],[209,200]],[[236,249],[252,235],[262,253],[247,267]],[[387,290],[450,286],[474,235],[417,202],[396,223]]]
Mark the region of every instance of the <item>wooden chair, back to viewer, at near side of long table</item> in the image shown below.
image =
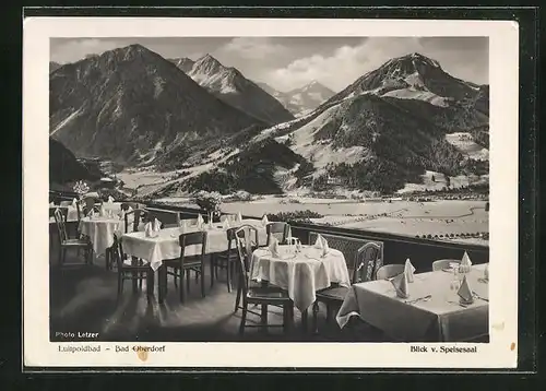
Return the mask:
[[[180,301],[186,301],[186,291],[190,291],[190,271],[193,270],[195,273],[201,275],[201,296],[205,297],[205,286],[204,286],[204,263],[206,254],[206,232],[181,234],[179,236],[180,245],[180,258],[164,260],[163,265],[167,268],[167,275],[173,275],[175,277],[175,283],[177,279],[180,279]],[[186,256],[186,248],[189,246],[201,246],[201,253],[195,256]],[[171,271],[169,271],[171,269]],[[183,277],[186,275],[186,289],[183,287]]]

